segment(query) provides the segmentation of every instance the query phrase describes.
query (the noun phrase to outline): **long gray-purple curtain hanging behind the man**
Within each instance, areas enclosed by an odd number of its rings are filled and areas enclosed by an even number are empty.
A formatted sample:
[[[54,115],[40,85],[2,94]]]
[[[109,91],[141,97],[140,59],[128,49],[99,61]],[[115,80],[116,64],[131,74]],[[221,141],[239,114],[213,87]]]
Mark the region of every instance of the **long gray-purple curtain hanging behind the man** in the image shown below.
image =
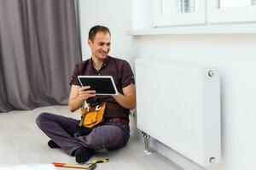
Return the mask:
[[[67,105],[79,51],[73,0],[0,0],[0,112]]]

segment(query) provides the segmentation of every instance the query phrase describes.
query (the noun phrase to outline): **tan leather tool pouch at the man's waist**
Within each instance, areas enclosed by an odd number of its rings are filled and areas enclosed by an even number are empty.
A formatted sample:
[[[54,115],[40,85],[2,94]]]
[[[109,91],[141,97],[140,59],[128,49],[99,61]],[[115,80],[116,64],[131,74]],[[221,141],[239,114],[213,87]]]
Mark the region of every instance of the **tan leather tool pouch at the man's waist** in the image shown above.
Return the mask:
[[[103,121],[104,111],[106,103],[96,105],[95,107],[87,106],[81,110],[81,121],[79,126],[82,127],[94,127]]]

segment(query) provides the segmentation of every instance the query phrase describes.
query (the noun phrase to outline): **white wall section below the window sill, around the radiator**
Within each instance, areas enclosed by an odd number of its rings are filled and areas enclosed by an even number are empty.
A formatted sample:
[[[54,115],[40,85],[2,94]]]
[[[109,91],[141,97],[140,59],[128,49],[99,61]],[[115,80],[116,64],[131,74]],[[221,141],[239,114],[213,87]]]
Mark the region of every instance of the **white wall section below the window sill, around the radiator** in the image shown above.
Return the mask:
[[[212,169],[253,169],[256,137],[256,35],[148,36],[136,56],[183,59],[219,67],[223,164]]]

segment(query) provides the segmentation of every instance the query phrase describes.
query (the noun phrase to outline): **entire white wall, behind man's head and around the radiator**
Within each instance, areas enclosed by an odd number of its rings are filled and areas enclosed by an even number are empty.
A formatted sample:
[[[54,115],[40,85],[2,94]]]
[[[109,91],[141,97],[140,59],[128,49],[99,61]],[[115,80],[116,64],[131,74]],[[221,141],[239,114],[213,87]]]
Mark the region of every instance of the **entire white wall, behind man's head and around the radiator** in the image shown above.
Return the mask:
[[[256,167],[256,35],[125,36],[131,29],[131,0],[80,1],[83,42],[91,26],[102,24],[112,31],[113,56],[182,59],[219,67],[223,163],[212,170],[250,170]],[[84,39],[84,37],[86,37]],[[90,52],[83,44],[83,56]],[[134,120],[132,120],[134,121]],[[132,122],[134,124],[134,122]],[[134,128],[134,127],[132,127]],[[155,142],[154,149],[172,157],[186,169],[200,169],[172,150]]]

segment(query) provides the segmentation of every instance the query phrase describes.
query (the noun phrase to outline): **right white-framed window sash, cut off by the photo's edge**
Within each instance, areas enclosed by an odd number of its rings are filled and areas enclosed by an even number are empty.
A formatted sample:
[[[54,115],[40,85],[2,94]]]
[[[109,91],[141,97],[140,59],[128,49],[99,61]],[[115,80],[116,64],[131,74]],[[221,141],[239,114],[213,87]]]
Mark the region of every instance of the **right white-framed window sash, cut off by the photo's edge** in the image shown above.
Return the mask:
[[[212,23],[256,21],[256,0],[208,0]]]

